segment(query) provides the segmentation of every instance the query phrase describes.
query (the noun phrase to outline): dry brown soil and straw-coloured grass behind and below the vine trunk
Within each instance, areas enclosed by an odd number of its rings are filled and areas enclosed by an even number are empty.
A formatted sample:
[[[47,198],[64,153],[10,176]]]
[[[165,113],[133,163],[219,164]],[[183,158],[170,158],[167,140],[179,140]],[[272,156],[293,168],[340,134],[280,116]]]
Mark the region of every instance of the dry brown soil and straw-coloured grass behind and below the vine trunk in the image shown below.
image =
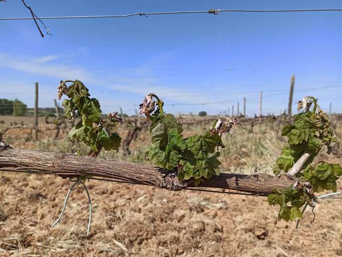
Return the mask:
[[[187,135],[204,128],[190,129]],[[49,130],[34,142],[30,131],[25,131],[11,129],[2,137],[16,148],[87,151],[63,133],[52,140],[54,131]],[[337,132],[341,137],[341,122]],[[125,136],[124,131],[121,134]],[[271,172],[285,145],[272,124],[253,131],[238,127],[223,138],[225,172]],[[103,152],[101,156],[148,163],[143,148],[149,142],[141,132],[132,142],[131,155]],[[340,164],[341,157],[342,149],[319,156]],[[314,223],[309,208],[295,229],[294,222],[277,221],[278,207],[268,205],[265,197],[169,192],[91,180],[87,186],[94,208],[87,238],[88,202],[80,186],[71,193],[60,223],[50,228],[70,186],[68,180],[52,176],[1,172],[0,256],[342,256],[342,199],[320,200]],[[342,191],[341,180],[338,191]]]

